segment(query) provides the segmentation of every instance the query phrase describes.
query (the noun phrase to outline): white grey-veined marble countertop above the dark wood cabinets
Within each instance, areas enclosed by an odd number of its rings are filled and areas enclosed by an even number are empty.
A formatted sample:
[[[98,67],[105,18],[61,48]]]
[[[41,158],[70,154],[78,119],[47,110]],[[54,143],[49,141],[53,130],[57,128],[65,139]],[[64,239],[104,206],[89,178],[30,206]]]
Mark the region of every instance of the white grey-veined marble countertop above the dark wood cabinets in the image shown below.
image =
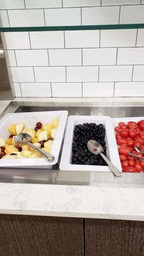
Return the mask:
[[[0,109],[10,101],[0,101]],[[0,183],[0,214],[144,221],[144,188]]]

